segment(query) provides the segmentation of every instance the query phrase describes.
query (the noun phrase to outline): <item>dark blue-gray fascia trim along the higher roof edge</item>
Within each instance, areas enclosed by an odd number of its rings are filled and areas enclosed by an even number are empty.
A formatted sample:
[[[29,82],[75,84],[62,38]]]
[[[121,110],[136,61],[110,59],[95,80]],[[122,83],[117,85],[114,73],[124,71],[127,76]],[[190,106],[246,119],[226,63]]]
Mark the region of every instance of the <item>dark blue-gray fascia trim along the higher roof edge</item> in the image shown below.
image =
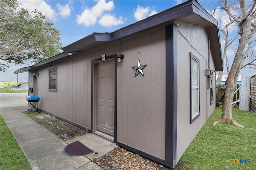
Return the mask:
[[[134,33],[138,33],[144,31],[146,29],[150,29],[152,27],[156,27],[159,25],[163,25],[166,23],[171,23],[175,21],[175,19],[182,18],[188,14],[196,14],[197,16],[201,16],[201,19],[204,18],[207,20],[211,25],[218,25],[217,21],[210,15],[206,10],[204,10],[197,1],[186,1],[180,5],[174,6],[150,16],[144,20],[138,21],[121,29],[118,29],[112,33],[92,33],[83,39],[80,39],[66,47],[63,47],[62,50],[64,53],[70,53],[73,51],[83,51],[83,47],[87,45],[92,45],[97,42],[105,41],[105,43],[100,43],[98,45],[103,45],[109,43],[110,41],[118,40],[128,35],[132,35]],[[97,46],[97,44],[95,44]],[[96,47],[95,46],[95,47]],[[87,48],[85,48],[87,49]],[[84,50],[85,50],[84,49]]]

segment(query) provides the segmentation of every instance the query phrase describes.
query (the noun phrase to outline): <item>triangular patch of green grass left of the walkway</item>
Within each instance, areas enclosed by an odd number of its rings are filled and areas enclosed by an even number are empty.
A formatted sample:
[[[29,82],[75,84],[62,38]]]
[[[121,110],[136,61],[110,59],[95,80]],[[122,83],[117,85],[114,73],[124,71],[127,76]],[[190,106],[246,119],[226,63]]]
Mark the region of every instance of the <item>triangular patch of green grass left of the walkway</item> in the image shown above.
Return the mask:
[[[20,146],[0,115],[0,168],[1,170],[32,170]]]

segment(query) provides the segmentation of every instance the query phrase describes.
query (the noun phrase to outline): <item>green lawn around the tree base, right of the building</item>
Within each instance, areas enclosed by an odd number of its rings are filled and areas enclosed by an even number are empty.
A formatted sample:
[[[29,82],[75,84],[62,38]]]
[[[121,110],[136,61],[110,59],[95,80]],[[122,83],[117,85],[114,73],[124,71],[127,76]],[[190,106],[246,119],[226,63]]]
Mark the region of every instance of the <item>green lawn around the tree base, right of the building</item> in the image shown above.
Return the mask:
[[[256,116],[250,111],[233,108],[233,119],[244,128],[227,123],[212,123],[220,119],[222,108],[217,108],[180,159],[185,169],[199,170],[256,170]],[[225,165],[223,159],[231,160]],[[238,164],[244,159],[247,164]],[[250,164],[248,164],[250,159]],[[235,163],[234,163],[235,162]]]

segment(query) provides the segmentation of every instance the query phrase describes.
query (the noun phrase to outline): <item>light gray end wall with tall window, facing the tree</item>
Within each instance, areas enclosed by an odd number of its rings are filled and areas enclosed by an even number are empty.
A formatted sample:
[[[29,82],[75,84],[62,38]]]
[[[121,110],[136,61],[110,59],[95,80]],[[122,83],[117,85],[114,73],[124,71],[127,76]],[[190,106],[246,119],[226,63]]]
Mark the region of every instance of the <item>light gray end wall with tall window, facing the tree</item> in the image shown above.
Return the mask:
[[[210,89],[207,88],[205,70],[208,69],[208,36],[204,28],[178,24],[178,115],[177,162],[200,131],[216,104],[210,105]],[[180,33],[179,33],[180,32]],[[186,39],[185,39],[185,38]],[[200,53],[199,53],[200,51]],[[200,117],[190,124],[190,52],[200,60]],[[211,56],[212,58],[212,56]],[[211,70],[215,70],[212,59]]]

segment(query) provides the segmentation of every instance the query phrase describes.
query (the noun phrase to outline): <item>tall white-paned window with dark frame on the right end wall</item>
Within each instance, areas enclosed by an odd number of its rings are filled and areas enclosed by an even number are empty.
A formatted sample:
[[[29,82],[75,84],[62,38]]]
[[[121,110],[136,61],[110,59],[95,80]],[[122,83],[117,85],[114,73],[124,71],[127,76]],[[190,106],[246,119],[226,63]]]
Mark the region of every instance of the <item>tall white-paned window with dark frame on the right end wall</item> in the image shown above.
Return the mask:
[[[190,123],[200,116],[199,59],[190,53]]]

